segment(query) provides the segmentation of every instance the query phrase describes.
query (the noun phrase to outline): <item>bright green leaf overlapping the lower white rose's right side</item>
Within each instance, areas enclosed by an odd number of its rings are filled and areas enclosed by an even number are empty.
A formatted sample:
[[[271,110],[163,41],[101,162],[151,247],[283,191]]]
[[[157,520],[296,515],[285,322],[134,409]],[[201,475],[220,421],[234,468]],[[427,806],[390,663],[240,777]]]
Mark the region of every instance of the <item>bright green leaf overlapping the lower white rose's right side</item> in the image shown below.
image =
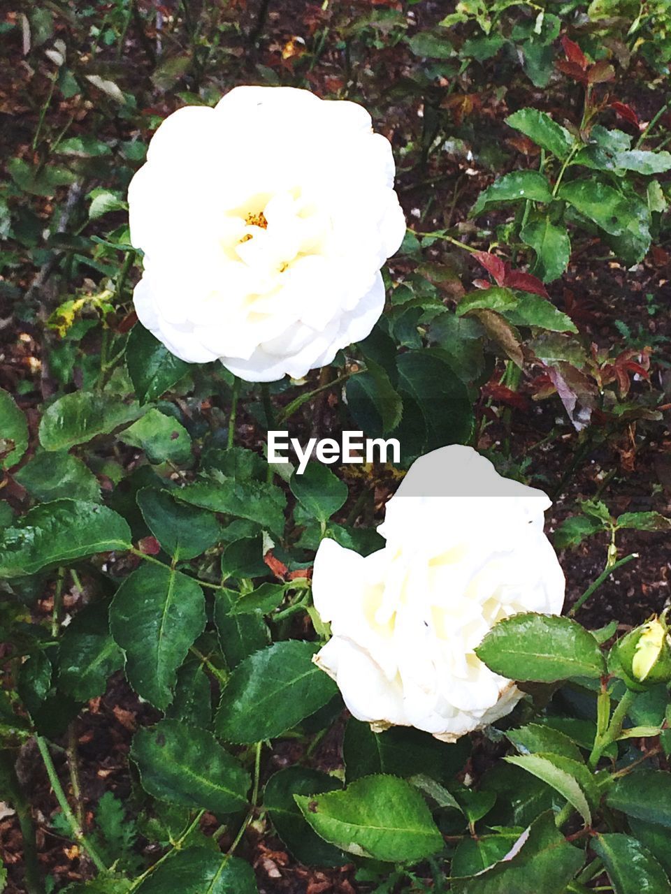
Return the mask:
[[[538,683],[598,678],[606,672],[590,632],[557,615],[524,612],[505,618],[488,632],[475,654],[502,677]]]

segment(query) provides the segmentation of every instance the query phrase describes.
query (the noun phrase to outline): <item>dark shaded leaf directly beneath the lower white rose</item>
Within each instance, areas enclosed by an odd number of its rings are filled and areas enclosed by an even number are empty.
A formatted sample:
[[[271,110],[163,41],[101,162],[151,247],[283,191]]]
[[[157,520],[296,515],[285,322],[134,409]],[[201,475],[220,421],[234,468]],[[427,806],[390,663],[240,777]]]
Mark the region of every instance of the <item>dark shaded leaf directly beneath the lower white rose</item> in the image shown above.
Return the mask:
[[[345,779],[350,783],[373,773],[402,777],[424,773],[448,783],[463,769],[470,751],[468,738],[448,745],[412,727],[392,727],[376,733],[368,723],[352,717],[344,731]]]

